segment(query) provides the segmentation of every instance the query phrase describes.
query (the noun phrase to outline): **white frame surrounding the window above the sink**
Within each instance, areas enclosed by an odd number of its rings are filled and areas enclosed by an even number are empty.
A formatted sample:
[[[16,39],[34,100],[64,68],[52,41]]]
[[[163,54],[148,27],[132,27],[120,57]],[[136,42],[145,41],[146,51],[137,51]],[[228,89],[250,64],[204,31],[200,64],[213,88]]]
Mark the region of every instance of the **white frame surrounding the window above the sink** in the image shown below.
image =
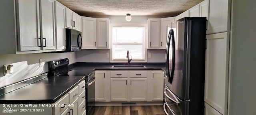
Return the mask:
[[[148,24],[110,24],[110,62],[112,63],[128,63],[128,59],[125,60],[113,60],[112,59],[112,28],[113,27],[144,27],[145,28],[145,60],[133,60],[130,63],[148,62]],[[132,55],[132,54],[130,54]]]

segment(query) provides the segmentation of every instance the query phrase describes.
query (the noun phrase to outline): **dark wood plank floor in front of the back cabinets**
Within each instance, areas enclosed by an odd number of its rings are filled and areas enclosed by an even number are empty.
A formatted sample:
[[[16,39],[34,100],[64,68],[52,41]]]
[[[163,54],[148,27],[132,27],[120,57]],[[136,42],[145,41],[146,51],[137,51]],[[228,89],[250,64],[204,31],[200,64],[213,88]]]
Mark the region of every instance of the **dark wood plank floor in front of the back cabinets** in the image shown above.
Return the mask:
[[[164,115],[163,106],[96,106],[94,115]]]

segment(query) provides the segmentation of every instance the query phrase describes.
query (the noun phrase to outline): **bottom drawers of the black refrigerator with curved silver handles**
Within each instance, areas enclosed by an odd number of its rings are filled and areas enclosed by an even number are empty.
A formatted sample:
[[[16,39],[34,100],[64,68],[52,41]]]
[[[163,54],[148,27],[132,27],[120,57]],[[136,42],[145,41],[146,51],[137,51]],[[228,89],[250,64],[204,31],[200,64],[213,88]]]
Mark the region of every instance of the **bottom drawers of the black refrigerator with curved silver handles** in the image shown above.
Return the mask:
[[[164,88],[164,111],[166,115],[188,115],[189,101],[182,101],[166,86]]]

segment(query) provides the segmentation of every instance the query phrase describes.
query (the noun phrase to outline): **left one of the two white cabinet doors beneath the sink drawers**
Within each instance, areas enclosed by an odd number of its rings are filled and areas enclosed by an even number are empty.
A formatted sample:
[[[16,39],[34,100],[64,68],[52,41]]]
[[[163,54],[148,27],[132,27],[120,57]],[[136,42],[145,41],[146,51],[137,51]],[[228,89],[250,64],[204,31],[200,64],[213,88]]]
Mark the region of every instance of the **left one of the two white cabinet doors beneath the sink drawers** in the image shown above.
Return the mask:
[[[110,78],[111,101],[128,101],[128,78]]]

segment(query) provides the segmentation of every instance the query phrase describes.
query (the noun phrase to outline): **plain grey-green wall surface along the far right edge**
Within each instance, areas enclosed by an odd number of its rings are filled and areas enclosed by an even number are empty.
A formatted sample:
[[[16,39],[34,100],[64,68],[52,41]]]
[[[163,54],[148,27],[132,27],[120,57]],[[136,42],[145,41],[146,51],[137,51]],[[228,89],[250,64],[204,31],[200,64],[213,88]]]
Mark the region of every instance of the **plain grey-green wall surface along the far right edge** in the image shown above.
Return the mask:
[[[229,115],[256,115],[256,0],[232,0]]]

